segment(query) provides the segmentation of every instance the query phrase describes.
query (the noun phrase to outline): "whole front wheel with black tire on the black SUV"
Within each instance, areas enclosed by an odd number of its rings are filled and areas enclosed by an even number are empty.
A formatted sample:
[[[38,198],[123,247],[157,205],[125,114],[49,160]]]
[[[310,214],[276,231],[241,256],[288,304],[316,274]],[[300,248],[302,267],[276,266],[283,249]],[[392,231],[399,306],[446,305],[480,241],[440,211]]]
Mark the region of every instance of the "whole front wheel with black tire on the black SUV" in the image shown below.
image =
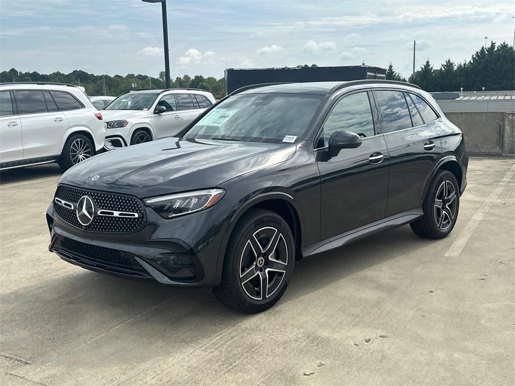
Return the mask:
[[[254,253],[254,248],[259,247],[261,251]],[[221,283],[214,288],[214,294],[234,310],[262,312],[276,304],[286,291],[294,264],[295,241],[288,224],[270,210],[252,209],[234,227]],[[261,286],[264,283],[266,286]],[[266,287],[265,291],[260,287]]]

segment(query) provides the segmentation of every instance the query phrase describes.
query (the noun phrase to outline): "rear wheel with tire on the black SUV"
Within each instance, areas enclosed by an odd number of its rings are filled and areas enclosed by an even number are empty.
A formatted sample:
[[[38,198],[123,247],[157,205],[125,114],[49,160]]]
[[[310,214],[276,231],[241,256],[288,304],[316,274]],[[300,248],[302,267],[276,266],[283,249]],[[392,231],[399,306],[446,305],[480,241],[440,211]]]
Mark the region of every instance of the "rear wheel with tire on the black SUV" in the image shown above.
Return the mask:
[[[416,235],[441,239],[451,233],[459,212],[459,186],[453,173],[443,170],[435,176],[427,189],[422,209],[424,215],[409,224]]]

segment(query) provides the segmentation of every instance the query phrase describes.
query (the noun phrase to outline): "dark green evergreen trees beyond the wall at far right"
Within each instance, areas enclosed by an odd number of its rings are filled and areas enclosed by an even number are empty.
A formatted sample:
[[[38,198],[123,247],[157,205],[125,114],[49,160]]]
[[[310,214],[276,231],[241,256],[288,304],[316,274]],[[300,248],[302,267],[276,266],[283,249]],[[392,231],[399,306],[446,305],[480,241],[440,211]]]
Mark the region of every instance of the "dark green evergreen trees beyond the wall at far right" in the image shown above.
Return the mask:
[[[386,71],[386,79],[406,81],[393,69]],[[429,59],[412,74],[408,82],[419,85],[428,92],[515,90],[515,51],[506,42],[481,47],[469,61],[456,64],[447,59],[435,69]]]

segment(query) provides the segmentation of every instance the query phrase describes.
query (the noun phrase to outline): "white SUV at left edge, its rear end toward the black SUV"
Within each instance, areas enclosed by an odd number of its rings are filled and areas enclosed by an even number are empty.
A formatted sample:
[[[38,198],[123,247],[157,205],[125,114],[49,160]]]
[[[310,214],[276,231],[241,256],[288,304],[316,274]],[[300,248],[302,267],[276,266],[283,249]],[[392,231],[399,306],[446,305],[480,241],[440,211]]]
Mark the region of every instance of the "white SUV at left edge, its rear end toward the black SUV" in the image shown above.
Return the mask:
[[[0,170],[51,162],[66,170],[101,150],[105,137],[82,87],[0,83]]]

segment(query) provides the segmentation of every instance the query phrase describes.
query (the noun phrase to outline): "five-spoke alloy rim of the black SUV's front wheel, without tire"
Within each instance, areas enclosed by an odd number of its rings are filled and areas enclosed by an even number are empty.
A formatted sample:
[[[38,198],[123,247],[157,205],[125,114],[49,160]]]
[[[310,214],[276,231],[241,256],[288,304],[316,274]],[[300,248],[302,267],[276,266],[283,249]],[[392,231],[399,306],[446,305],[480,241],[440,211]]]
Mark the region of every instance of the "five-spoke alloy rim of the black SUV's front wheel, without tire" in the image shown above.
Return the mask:
[[[282,233],[265,226],[252,233],[239,262],[239,281],[254,300],[265,300],[281,285],[288,264],[288,247]]]

